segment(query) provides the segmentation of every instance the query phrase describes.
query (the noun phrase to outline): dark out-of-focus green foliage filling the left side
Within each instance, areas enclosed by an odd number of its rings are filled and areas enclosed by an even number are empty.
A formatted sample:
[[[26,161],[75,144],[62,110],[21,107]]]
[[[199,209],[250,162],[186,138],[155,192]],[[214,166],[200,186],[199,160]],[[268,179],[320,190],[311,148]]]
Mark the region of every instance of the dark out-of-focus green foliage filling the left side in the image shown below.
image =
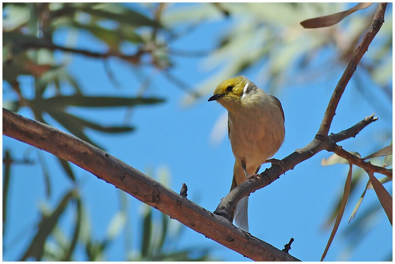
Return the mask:
[[[170,66],[170,59],[164,52],[165,43],[157,39],[157,34],[167,34],[159,22],[163,4],[152,7],[154,18],[144,12],[138,12],[119,3],[3,3],[3,84],[8,84],[14,93],[15,100],[4,101],[3,107],[18,112],[21,108],[29,108],[37,121],[54,124],[56,121],[70,133],[81,140],[100,146],[86,135],[86,129],[107,134],[133,132],[135,126],[124,124],[101,124],[97,120],[86,120],[70,112],[71,108],[79,108],[80,112],[87,108],[124,107],[132,109],[137,106],[151,106],[163,103],[158,97],[143,96],[136,88],[134,97],[117,97],[86,95],[79,81],[70,73],[64,60],[55,58],[56,51],[68,54],[79,54],[106,60],[117,57],[133,67],[151,65],[165,69]],[[149,11],[150,8],[147,8]],[[110,27],[109,27],[110,25]],[[111,26],[112,25],[112,26]],[[74,48],[70,45],[54,43],[53,35],[60,29],[73,29],[88,33],[106,46],[106,52],[95,52]],[[132,49],[124,49],[132,45]],[[126,50],[126,51],[125,51]],[[130,50],[136,50],[131,54]],[[148,57],[148,58],[147,58]],[[109,79],[117,87],[116,80],[109,66],[105,64]],[[20,86],[20,77],[29,76],[33,80],[32,95]],[[52,119],[50,119],[51,117]],[[51,191],[51,173],[45,158],[38,151],[38,163],[42,167],[45,193],[48,201]],[[59,168],[72,182],[78,181],[69,162],[58,158]],[[23,163],[27,163],[26,160]],[[19,163],[11,158],[10,150],[4,152],[3,172],[3,235],[6,231],[9,182],[12,178],[11,166]],[[78,247],[84,248],[84,258],[88,261],[104,261],[107,248],[126,228],[128,214],[126,206],[113,216],[104,239],[97,240],[91,234],[91,220],[86,212],[86,205],[80,198],[79,187],[67,192],[55,209],[49,209],[47,203],[41,204],[41,219],[38,222],[34,237],[21,252],[20,260],[35,261],[74,261]],[[130,198],[130,197],[128,197]],[[126,199],[126,198],[124,198]],[[127,199],[126,199],[127,200]],[[71,235],[60,225],[68,208],[72,209],[74,227]],[[157,230],[156,219],[151,208],[141,217],[141,248],[138,254],[127,252],[125,260],[151,261],[203,261],[210,260],[207,248],[171,249],[179,240],[180,232],[172,234],[168,230],[170,218],[158,213],[161,229]],[[131,230],[125,230],[131,235]],[[5,250],[7,246],[3,247]]]

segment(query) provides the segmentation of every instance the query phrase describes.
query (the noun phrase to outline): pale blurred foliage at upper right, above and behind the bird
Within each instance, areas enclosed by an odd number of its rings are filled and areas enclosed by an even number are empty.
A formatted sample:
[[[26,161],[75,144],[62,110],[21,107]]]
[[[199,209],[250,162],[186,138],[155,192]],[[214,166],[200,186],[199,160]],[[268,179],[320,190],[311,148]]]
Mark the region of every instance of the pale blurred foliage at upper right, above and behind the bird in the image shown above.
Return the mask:
[[[207,57],[204,65],[213,76],[197,85],[198,93],[211,93],[222,80],[256,67],[259,70],[253,79],[274,93],[285,85],[311,83],[324,72],[328,75],[336,73],[334,69],[344,69],[360,36],[370,26],[375,8],[372,5],[366,12],[358,11],[332,27],[316,30],[306,30],[299,22],[344,11],[346,4],[205,3],[168,12],[162,22],[169,27],[218,20],[226,18],[225,10],[235,21],[219,36],[217,47]],[[392,16],[386,16],[377,38],[380,41],[370,47],[358,69],[367,71],[392,100]],[[322,51],[327,48],[336,56],[322,60]],[[315,63],[317,59],[322,60],[320,65]],[[295,66],[298,70],[290,72]],[[333,77],[338,79],[337,75]],[[184,103],[189,105],[195,100],[187,96]]]

